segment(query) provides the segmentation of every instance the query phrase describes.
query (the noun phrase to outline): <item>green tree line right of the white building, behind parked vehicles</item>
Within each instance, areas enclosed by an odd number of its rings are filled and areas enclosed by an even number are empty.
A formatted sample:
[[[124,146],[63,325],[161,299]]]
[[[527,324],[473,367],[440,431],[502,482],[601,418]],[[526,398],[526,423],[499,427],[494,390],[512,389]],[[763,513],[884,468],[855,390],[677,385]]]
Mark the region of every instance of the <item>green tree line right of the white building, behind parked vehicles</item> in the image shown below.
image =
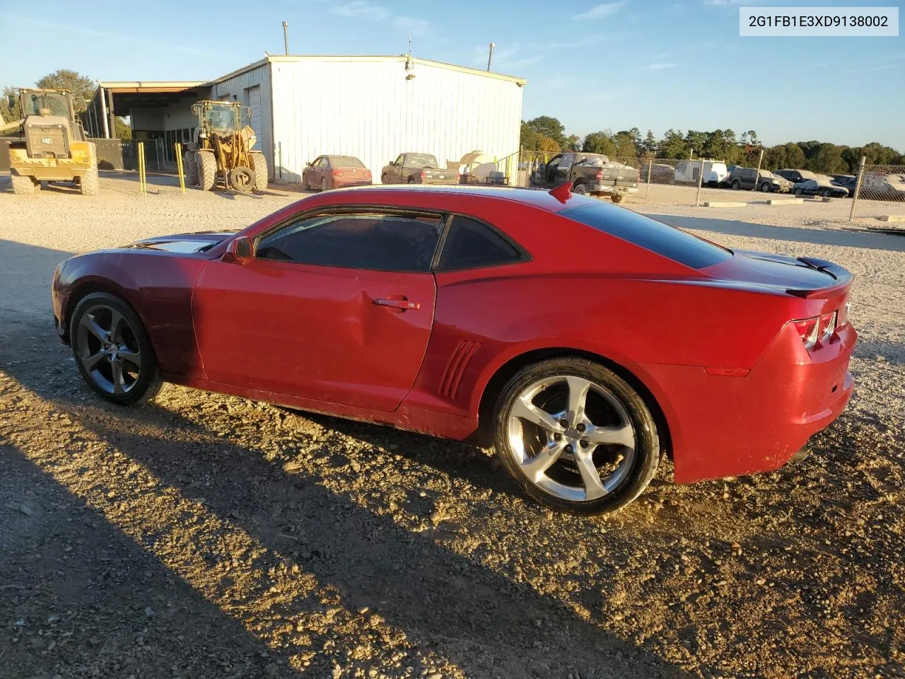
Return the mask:
[[[521,122],[521,148],[533,151],[584,151],[602,153],[613,158],[713,158],[727,165],[757,166],[764,151],[761,167],[778,169],[794,167],[822,174],[855,174],[861,157],[868,165],[905,165],[905,155],[895,148],[871,142],[862,147],[837,146],[823,141],[790,141],[765,147],[757,132],[748,129],[737,135],[732,129],[704,132],[690,129],[667,129],[657,139],[653,131],[642,135],[638,128],[613,132],[610,129],[591,132],[584,139],[567,135],[565,126],[551,116],[539,116]]]

